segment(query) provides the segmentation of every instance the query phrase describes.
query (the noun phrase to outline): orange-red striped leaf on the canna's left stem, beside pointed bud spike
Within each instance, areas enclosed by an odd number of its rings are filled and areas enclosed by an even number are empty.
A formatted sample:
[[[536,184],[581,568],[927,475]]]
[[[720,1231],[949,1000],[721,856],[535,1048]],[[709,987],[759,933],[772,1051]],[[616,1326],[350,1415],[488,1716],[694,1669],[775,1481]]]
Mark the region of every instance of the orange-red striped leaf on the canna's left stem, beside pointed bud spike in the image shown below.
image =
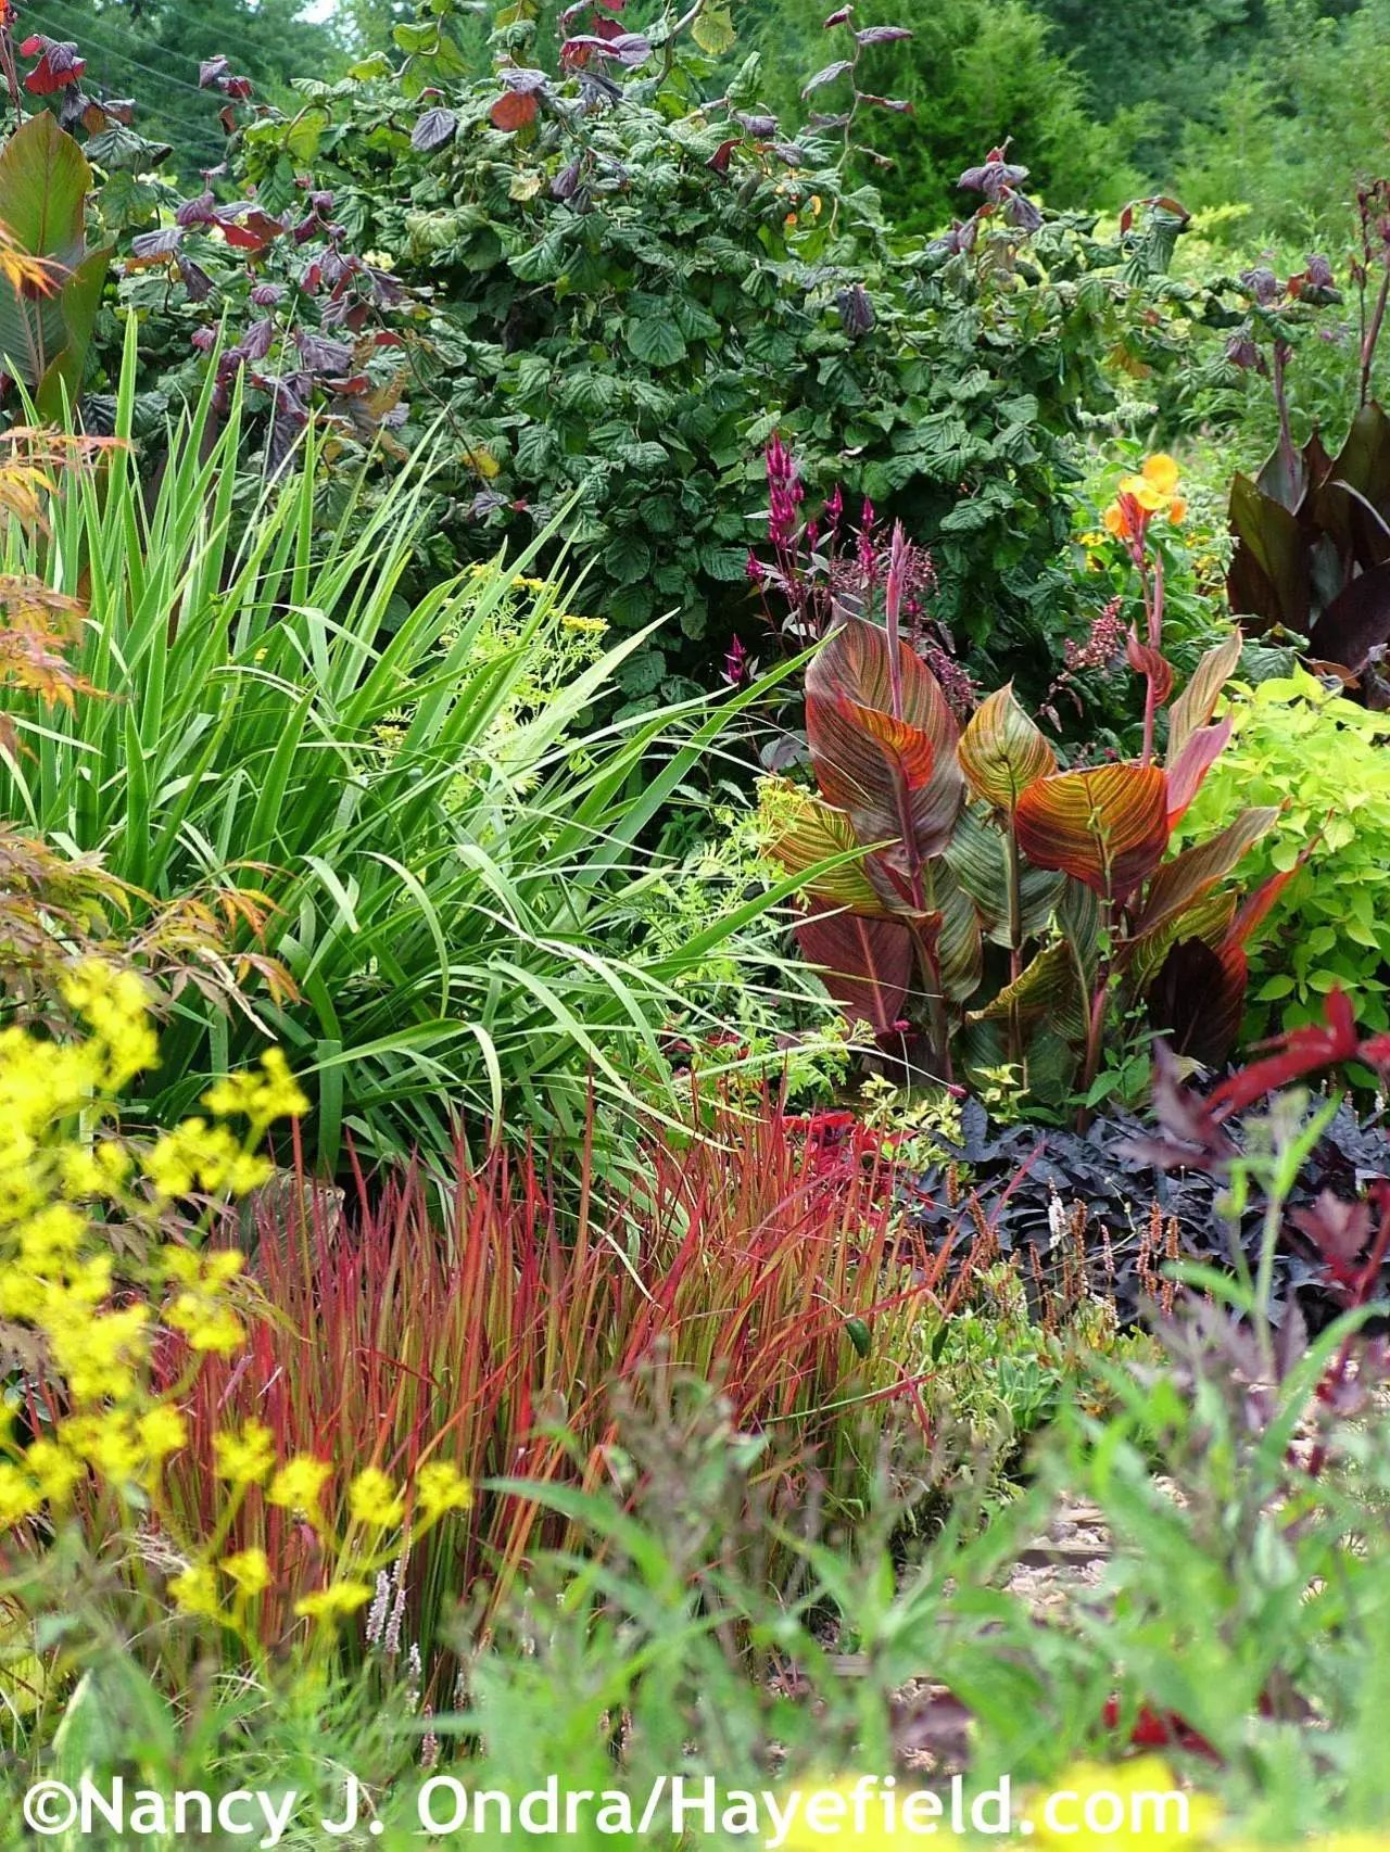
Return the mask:
[[[806,737],[823,796],[849,815],[860,843],[886,843],[899,869],[940,856],[966,785],[954,739],[938,743],[912,720],[847,696],[806,698]]]

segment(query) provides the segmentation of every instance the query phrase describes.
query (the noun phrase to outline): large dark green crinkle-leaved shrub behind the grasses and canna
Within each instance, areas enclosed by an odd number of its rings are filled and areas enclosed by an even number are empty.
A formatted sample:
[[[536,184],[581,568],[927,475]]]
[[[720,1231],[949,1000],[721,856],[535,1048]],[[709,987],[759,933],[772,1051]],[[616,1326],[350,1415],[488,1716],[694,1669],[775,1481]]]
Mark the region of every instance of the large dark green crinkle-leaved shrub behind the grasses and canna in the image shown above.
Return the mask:
[[[487,76],[441,0],[389,56],[302,80],[293,115],[213,78],[230,167],[193,200],[150,180],[139,135],[113,150],[95,213],[143,400],[196,387],[224,324],[222,396],[237,374],[272,465],[315,407],[348,465],[436,430],[437,572],[573,500],[589,607],[619,632],[678,615],[621,665],[639,707],[708,685],[749,624],[780,430],[808,513],[841,483],[901,515],[941,620],[1029,682],[1071,619],[1068,494],[1118,382],[1190,376],[1194,332],[1229,319],[1164,274],[1181,220],[1101,239],[986,161],[966,224],[908,244],[847,187],[838,135],[764,111],[756,56],[730,78],[730,46],[649,30],[541,70],[534,13],[508,9]],[[328,522],[343,500],[324,487]]]

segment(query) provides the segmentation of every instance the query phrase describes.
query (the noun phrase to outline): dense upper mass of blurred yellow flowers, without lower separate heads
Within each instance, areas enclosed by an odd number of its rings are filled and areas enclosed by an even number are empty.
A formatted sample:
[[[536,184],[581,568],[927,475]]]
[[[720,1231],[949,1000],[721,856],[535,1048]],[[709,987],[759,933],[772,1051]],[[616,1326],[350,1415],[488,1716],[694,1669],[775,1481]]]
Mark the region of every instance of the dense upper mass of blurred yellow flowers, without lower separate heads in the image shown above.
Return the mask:
[[[269,1165],[250,1141],[308,1106],[276,1050],[204,1102],[243,1115],[245,1141],[191,1119],[137,1161],[111,1115],[122,1087],[158,1061],[145,985],[87,959],[65,976],[63,1000],[85,1024],[82,1039],[0,1032],[0,1317],[33,1332],[54,1409],[28,1446],[0,1435],[6,1528],[44,1506],[61,1511],[91,1474],[119,1493],[156,1489],[185,1441],[182,1413],[148,1385],[158,1332],[182,1332],[195,1352],[245,1343],[228,1300],[241,1256],[165,1239],[156,1209],[195,1187],[237,1195],[259,1183]],[[113,1204],[141,1237],[122,1278],[95,1204]]]

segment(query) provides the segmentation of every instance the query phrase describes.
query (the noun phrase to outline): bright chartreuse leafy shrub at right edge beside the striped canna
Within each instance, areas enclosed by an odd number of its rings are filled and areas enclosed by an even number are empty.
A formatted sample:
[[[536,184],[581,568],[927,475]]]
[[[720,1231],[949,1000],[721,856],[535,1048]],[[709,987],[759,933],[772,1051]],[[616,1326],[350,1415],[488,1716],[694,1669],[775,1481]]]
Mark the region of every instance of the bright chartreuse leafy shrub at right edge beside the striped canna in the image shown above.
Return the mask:
[[[1245,1035],[1316,1022],[1340,985],[1368,1028],[1390,1026],[1390,715],[1368,713],[1301,669],[1242,691],[1234,739],[1182,835],[1207,835],[1247,804],[1283,806],[1247,857],[1253,882],[1307,861],[1251,946]],[[1314,841],[1316,839],[1316,841]]]

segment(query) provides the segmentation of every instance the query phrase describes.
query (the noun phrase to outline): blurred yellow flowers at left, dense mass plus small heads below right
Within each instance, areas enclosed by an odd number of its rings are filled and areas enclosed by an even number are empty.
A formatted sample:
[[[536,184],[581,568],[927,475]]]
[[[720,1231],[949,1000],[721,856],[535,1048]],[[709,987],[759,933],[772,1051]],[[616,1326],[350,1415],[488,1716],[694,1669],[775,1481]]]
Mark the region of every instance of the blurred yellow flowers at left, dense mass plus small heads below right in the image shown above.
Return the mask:
[[[187,1119],[143,1152],[128,1146],[113,1124],[119,1093],[158,1059],[145,987],[132,972],[87,963],[63,995],[85,1022],[82,1039],[0,1032],[0,1319],[33,1333],[52,1411],[28,1439],[0,1426],[0,1532],[44,1508],[52,1519],[96,1509],[107,1495],[126,1515],[154,1509],[182,1556],[169,1598],[248,1643],[248,1613],[274,1572],[256,1543],[230,1548],[228,1539],[256,1487],[263,1508],[315,1530],[326,1582],[293,1611],[332,1633],[371,1600],[384,1561],[447,1511],[469,1509],[469,1482],[441,1461],[421,1467],[411,1485],[367,1467],[347,1485],[339,1535],[324,1509],[332,1465],[313,1454],[282,1458],[271,1430],[250,1420],[213,1435],[213,1474],[224,1489],[213,1533],[182,1537],[163,1482],[165,1463],[189,1439],[178,1404],[198,1359],[235,1354],[246,1332],[234,1300],[241,1254],[172,1239],[171,1204],[193,1193],[235,1196],[269,1178],[256,1146],[308,1100],[272,1048],[256,1070],[208,1089],[208,1117]],[[130,1258],[119,1267],[93,1213],[98,1204],[104,1222],[117,1220],[128,1235]],[[193,1359],[165,1396],[150,1380],[161,1332],[180,1333]]]

